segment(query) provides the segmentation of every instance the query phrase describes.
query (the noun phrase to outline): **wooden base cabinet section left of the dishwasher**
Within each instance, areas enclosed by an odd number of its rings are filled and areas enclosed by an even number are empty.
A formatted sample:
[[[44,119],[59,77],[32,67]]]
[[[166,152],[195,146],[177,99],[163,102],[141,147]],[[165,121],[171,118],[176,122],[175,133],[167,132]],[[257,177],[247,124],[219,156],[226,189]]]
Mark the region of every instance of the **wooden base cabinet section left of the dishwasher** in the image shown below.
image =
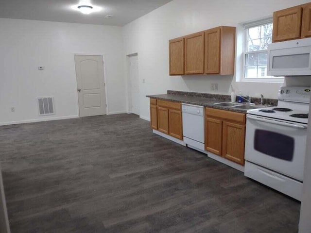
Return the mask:
[[[151,128],[183,140],[181,103],[150,99]]]

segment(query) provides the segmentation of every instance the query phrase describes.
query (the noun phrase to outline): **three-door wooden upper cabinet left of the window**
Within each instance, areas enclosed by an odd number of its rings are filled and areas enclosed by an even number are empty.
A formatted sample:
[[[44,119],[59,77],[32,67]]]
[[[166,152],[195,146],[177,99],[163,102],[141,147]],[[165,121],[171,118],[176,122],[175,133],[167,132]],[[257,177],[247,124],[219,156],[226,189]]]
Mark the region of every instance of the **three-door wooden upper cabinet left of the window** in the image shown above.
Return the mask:
[[[170,75],[234,74],[235,31],[220,26],[170,40]]]

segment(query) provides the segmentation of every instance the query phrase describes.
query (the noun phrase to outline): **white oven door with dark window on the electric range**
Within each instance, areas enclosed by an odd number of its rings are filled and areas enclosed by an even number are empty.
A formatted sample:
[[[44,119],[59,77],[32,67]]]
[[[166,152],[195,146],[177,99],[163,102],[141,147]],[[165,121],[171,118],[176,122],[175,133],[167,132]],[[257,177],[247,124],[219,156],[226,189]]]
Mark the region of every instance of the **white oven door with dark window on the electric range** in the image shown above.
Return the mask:
[[[303,180],[307,126],[247,115],[245,160]]]

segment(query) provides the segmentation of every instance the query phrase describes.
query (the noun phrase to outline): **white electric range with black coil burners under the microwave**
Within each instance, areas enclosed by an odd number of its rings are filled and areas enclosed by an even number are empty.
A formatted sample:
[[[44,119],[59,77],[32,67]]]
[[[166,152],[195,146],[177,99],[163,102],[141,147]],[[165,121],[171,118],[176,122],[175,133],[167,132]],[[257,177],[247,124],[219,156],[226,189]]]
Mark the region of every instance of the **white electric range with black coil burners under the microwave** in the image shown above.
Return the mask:
[[[246,114],[244,175],[301,200],[310,87],[281,86],[277,107]]]

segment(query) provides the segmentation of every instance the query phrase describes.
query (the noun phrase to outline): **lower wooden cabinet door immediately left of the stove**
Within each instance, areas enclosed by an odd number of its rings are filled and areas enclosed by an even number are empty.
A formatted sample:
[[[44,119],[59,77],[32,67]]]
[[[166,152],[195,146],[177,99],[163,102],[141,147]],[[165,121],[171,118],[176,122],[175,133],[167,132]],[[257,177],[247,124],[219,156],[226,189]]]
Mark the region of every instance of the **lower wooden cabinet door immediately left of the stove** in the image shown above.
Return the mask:
[[[245,125],[224,121],[223,156],[244,165]]]

